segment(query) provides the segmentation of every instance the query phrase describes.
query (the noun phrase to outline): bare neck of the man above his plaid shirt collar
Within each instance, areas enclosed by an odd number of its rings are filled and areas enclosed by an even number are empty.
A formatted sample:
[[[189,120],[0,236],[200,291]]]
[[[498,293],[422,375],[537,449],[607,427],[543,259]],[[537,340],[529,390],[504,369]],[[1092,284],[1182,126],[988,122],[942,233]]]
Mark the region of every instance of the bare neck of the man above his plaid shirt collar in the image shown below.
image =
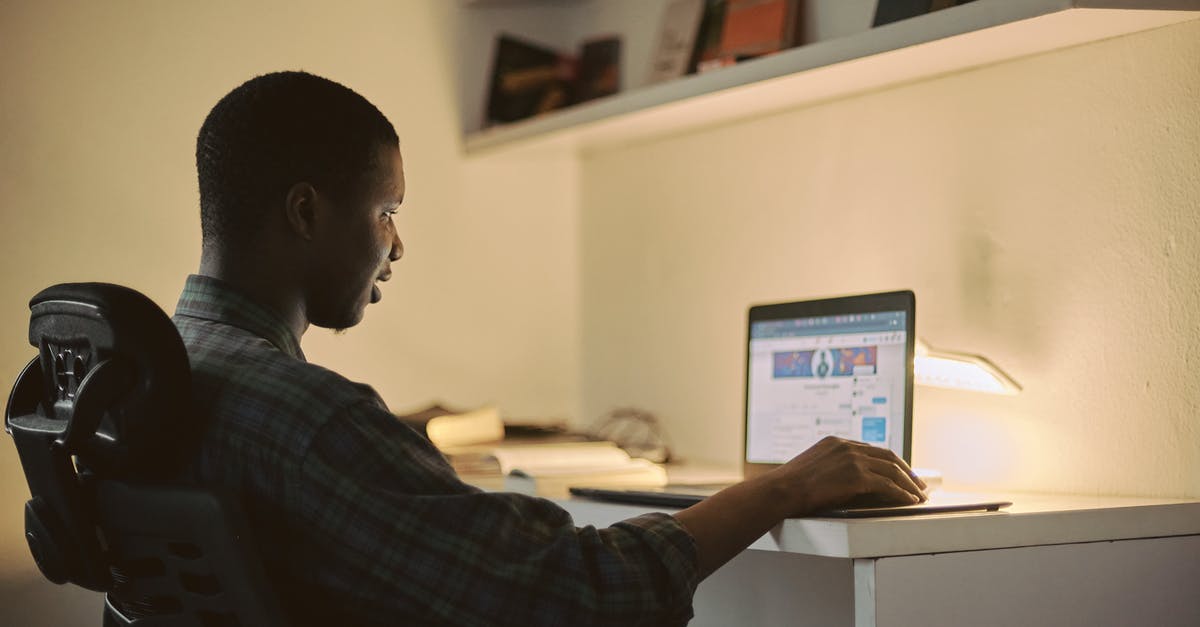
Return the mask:
[[[235,259],[205,249],[200,255],[198,274],[218,279],[252,298],[277,315],[296,341],[308,330],[305,300],[299,286],[281,280],[286,273],[272,271],[270,263],[248,258]]]

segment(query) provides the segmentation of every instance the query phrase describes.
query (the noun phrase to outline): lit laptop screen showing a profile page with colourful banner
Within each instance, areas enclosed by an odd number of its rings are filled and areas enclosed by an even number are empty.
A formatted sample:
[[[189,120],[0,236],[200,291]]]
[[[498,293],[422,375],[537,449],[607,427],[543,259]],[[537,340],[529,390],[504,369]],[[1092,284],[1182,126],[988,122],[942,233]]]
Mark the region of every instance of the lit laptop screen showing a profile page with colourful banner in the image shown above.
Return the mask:
[[[746,461],[782,464],[833,435],[904,454],[904,311],[750,324]]]

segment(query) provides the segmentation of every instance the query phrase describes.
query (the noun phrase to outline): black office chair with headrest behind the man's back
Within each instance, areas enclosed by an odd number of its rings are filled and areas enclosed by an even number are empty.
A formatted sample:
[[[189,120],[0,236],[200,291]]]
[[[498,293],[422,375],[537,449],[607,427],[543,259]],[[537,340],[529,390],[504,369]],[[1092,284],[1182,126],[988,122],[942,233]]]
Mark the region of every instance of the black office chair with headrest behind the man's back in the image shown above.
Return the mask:
[[[104,592],[106,627],[282,626],[236,498],[176,480],[202,424],[167,315],[107,283],[49,287],[30,311],[38,356],[5,429],[42,574]]]

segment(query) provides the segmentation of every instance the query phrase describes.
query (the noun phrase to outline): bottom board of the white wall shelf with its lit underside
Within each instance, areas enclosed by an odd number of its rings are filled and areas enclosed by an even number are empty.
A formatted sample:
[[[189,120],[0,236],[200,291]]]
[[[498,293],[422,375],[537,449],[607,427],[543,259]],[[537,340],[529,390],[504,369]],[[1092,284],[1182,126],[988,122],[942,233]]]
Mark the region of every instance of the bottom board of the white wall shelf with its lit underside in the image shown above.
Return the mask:
[[[1200,18],[1200,0],[976,0],[467,133],[468,154],[589,149],[794,108]]]

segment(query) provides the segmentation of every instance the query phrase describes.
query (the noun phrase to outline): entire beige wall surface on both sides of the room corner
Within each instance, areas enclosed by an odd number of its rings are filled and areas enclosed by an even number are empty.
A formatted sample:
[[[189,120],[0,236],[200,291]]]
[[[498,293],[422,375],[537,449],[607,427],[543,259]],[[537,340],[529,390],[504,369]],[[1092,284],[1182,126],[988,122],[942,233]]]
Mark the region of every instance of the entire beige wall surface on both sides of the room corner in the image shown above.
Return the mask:
[[[1200,23],[580,161],[464,160],[452,2],[331,6],[0,0],[0,389],[46,285],[173,307],[204,114],[306,68],[374,101],[406,150],[408,255],[384,301],[305,340],[397,410],[635,404],[685,455],[732,464],[748,304],[912,287],[920,335],[1026,386],[920,389],[918,464],[1200,496]],[[86,596],[32,609],[53,589],[20,541],[18,472],[0,443],[0,623],[89,623]]]

